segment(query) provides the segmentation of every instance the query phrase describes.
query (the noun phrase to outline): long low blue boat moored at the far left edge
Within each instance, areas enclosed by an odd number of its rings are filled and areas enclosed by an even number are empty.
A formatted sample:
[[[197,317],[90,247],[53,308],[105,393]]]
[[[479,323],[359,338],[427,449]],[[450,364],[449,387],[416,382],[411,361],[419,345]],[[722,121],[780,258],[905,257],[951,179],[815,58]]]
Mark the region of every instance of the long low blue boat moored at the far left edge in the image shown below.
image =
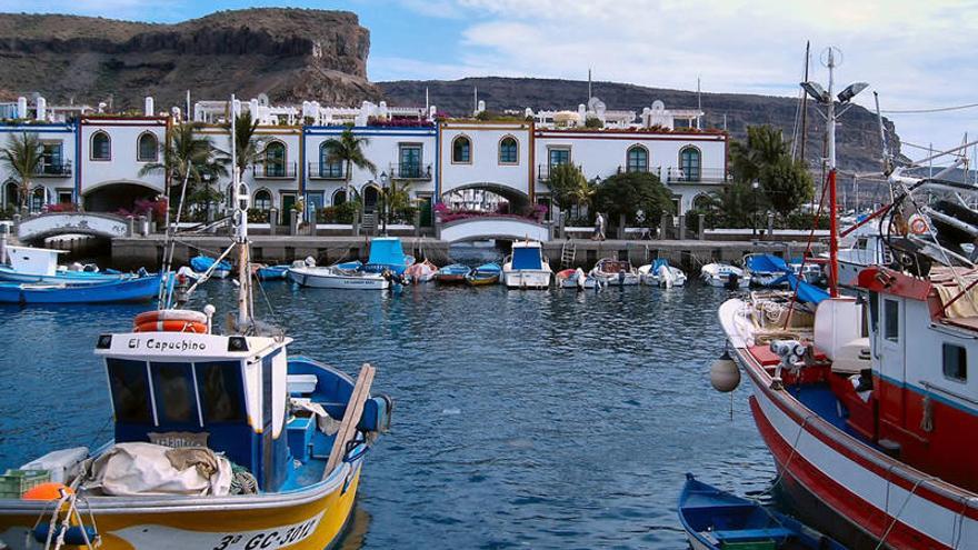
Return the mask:
[[[117,303],[156,298],[162,277],[136,277],[99,284],[0,283],[0,303]]]

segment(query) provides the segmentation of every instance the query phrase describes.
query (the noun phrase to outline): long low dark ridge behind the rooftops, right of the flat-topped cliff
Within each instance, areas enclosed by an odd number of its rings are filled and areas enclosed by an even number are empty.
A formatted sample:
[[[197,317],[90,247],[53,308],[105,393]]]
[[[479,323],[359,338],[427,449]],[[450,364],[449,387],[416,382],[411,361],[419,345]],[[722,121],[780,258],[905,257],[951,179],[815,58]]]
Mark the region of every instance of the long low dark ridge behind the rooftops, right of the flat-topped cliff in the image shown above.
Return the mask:
[[[486,101],[487,109],[570,109],[577,110],[579,103],[587,101],[588,84],[583,81],[529,78],[467,78],[453,81],[411,80],[379,82],[377,86],[392,104],[419,104],[425,101],[428,89],[432,104],[438,110],[455,116],[472,112],[472,90],[478,88],[479,99]],[[601,98],[609,109],[633,110],[640,113],[643,107],[661,100],[666,108],[689,109],[697,107],[697,94],[692,91],[647,88],[617,82],[596,82],[593,94]],[[798,108],[797,98],[772,96],[751,96],[742,93],[703,93],[702,110],[705,124],[711,128],[726,128],[734,138],[741,139],[748,126],[774,124],[781,128],[787,137],[792,133]],[[825,121],[815,112],[809,102],[807,142],[805,156],[810,166],[820,166],[825,136]],[[891,136],[894,124],[884,119]],[[874,113],[855,106],[841,119],[838,139],[839,166],[850,170],[877,171],[880,169],[879,124]],[[899,139],[891,146],[899,151]]]

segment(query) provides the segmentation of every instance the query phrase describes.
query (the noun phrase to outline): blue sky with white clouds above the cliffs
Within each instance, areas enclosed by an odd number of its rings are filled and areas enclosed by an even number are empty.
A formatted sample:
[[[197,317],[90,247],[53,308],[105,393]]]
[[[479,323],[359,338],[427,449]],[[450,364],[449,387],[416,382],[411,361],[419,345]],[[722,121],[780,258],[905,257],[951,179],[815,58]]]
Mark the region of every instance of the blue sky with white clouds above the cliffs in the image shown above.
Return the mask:
[[[0,11],[23,11],[0,0]],[[530,76],[795,96],[805,41],[845,52],[840,84],[870,82],[882,109],[978,102],[978,0],[49,0],[42,10],[176,22],[219,9],[289,6],[356,12],[371,32],[371,80]],[[859,102],[870,107],[871,93]],[[655,98],[649,98],[649,103]],[[491,107],[491,106],[490,106]],[[529,106],[532,107],[532,106]],[[610,106],[615,107],[615,106]],[[689,106],[676,106],[689,107]],[[709,108],[708,104],[705,106]],[[978,138],[978,109],[892,114],[908,143]],[[845,122],[845,121],[844,121]],[[920,157],[909,147],[905,152]]]

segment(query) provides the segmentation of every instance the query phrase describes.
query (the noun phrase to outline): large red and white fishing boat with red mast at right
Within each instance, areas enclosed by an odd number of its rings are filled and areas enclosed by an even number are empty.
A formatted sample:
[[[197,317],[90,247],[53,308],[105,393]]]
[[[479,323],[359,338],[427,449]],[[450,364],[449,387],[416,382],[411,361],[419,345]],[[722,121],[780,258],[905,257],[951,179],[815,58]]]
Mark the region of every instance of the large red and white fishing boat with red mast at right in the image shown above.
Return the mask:
[[[912,272],[867,267],[859,297],[840,296],[831,76],[820,90],[812,96],[830,121],[830,297],[728,300],[719,310],[728,353],[751,381],[776,484],[806,520],[851,548],[978,548],[978,269],[960,246],[978,237],[978,214],[959,202],[966,186],[889,173],[897,199],[876,219],[891,250],[902,250],[895,264]],[[924,189],[928,199],[915,196]],[[946,200],[924,204],[941,192]],[[926,234],[899,231],[908,214],[926,219]],[[721,391],[739,380],[729,361],[711,374]]]

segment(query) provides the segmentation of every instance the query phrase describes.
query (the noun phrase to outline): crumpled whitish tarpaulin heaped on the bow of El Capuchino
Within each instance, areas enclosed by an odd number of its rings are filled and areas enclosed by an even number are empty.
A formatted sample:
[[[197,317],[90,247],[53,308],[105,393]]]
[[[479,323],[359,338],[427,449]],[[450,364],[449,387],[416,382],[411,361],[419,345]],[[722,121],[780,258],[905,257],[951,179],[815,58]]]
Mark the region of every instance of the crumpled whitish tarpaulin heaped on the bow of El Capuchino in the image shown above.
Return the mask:
[[[118,443],[92,463],[89,489],[104,494],[214,494],[231,488],[231,462],[206,448]]]

